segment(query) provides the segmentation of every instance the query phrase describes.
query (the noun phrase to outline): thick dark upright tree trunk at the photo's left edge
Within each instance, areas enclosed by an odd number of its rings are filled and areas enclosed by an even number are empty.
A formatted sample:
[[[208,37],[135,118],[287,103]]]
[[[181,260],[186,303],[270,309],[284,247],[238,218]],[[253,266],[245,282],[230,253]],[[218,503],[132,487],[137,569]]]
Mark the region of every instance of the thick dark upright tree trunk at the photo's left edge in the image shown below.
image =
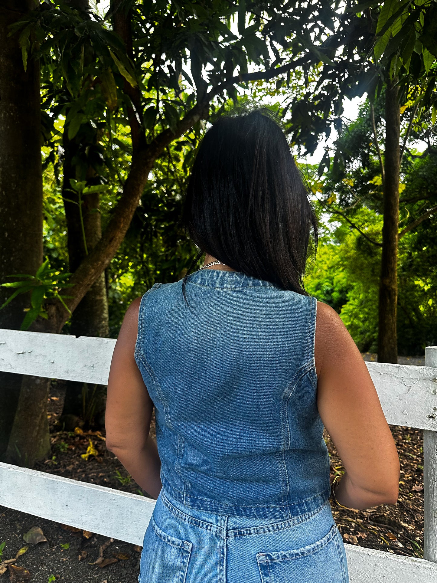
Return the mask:
[[[0,283],[14,273],[36,273],[43,262],[40,78],[38,61],[24,71],[19,33],[9,24],[34,8],[33,2],[0,5]],[[0,287],[0,305],[10,289]],[[30,297],[21,295],[0,310],[0,328],[19,329]],[[22,375],[0,373],[0,456],[8,445]],[[47,445],[47,444],[46,444]]]

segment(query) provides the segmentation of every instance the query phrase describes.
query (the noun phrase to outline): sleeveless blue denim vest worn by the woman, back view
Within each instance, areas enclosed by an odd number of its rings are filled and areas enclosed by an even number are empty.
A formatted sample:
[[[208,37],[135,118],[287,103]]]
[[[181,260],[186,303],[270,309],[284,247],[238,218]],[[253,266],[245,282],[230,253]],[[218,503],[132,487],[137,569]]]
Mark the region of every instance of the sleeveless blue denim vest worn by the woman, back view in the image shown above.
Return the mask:
[[[188,508],[287,519],[330,494],[316,405],[316,298],[203,269],[142,297],[135,360],[164,491]]]

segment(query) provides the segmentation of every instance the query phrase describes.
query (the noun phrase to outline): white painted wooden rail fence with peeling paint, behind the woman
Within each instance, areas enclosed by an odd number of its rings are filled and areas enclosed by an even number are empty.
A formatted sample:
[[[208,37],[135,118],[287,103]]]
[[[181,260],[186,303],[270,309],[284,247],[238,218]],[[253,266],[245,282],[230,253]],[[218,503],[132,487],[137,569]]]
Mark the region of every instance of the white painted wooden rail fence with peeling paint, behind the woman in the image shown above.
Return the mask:
[[[114,345],[0,329],[0,370],[107,384]],[[437,347],[427,347],[424,367],[366,364],[387,422],[424,430],[425,559],[346,545],[350,581],[437,583]],[[154,500],[0,463],[0,505],[142,545]]]

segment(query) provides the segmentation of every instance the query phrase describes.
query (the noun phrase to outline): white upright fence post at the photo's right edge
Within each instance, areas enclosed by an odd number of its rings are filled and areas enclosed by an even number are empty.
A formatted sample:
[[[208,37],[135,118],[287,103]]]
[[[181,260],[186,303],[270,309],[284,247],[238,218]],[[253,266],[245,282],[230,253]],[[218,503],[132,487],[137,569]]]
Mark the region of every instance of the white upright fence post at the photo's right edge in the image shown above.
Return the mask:
[[[437,368],[437,346],[425,348],[425,366]],[[435,377],[437,382],[437,370]],[[437,563],[437,431],[427,429],[424,430],[424,559]]]

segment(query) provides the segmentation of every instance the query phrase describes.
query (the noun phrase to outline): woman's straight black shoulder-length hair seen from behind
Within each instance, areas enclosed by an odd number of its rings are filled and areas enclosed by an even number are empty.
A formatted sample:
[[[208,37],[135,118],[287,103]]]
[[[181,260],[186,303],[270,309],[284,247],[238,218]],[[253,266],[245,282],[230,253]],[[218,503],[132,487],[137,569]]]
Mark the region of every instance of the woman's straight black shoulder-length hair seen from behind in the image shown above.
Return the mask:
[[[267,109],[218,118],[199,145],[181,223],[199,248],[232,269],[308,296],[306,261],[318,223],[287,138]]]

